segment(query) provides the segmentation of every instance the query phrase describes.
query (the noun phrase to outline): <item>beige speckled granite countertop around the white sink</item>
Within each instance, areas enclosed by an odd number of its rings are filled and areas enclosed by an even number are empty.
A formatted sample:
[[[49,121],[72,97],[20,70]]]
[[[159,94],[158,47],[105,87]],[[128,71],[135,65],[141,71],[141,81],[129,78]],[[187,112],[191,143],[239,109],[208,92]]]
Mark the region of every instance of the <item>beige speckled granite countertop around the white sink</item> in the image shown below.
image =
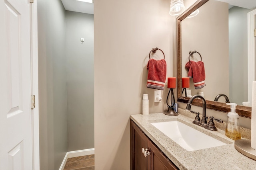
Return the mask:
[[[132,119],[142,131],[166,154],[168,158],[181,170],[211,169],[211,170],[255,170],[256,161],[252,160],[234,148],[234,140],[225,135],[225,123],[214,121],[218,131],[210,131],[192,123],[195,115],[178,108],[178,116],[168,116],[164,113],[150,113],[149,115],[131,115]],[[200,115],[201,117],[201,115]],[[187,151],[164,135],[153,122],[179,120],[227,145]],[[171,131],[172,129],[170,129]],[[250,129],[241,128],[242,139],[250,139]]]

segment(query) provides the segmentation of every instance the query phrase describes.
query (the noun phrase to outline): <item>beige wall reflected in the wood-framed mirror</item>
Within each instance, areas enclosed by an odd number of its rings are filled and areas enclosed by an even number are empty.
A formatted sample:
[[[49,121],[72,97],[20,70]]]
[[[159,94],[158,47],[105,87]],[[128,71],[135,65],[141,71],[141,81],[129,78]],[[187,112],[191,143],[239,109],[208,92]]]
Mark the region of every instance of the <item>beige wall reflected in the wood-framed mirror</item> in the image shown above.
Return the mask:
[[[191,95],[204,92],[206,100],[214,100],[218,94],[229,96],[228,60],[228,4],[210,0],[199,8],[199,14],[182,21],[182,77],[187,77],[185,64],[188,52],[198,51],[205,68],[206,86],[196,90],[190,78]],[[198,53],[190,57],[200,61]],[[219,101],[225,102],[224,98]]]

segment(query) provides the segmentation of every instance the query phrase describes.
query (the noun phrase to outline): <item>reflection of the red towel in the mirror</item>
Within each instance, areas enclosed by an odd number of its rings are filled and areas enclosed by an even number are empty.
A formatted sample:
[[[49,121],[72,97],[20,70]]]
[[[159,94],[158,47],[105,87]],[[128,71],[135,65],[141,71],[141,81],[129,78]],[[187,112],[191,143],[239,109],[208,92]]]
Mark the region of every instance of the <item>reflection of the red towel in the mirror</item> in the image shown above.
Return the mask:
[[[186,63],[186,68],[188,68],[188,77],[193,78],[195,89],[200,89],[206,86],[204,63],[202,61]]]

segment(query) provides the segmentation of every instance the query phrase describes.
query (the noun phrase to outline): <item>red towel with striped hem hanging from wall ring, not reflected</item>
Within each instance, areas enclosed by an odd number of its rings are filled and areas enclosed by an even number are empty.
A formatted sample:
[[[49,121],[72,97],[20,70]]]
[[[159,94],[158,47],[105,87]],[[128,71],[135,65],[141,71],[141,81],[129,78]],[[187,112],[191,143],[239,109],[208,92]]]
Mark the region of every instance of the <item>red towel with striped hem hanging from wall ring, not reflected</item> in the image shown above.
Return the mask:
[[[148,61],[148,81],[147,87],[164,90],[166,79],[166,61],[150,59]]]

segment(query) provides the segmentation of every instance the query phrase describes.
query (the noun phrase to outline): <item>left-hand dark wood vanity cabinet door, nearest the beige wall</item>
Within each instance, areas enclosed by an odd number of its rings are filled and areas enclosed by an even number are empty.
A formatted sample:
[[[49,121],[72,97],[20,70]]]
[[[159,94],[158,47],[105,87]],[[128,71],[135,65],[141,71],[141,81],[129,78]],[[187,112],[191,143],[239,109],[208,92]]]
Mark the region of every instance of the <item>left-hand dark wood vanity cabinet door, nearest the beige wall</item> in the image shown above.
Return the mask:
[[[130,169],[148,170],[149,156],[142,153],[142,148],[148,149],[148,138],[133,121],[130,121],[130,130]]]

